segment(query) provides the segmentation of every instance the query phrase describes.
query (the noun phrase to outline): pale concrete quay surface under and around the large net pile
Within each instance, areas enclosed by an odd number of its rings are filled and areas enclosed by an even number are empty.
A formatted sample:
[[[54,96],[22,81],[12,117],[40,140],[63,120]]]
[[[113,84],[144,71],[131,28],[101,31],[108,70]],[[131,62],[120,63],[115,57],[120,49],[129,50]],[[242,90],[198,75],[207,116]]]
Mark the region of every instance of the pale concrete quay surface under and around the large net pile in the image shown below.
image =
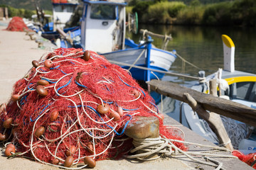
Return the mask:
[[[28,69],[32,67],[32,60],[39,60],[40,57],[49,52],[49,49],[38,48],[38,44],[29,38],[24,32],[10,32],[4,30],[6,26],[0,24],[0,103],[6,103],[11,97],[14,83],[21,79]],[[212,145],[213,143],[208,142],[203,137],[197,135],[195,132],[188,130],[176,120],[172,119],[168,115],[165,115],[165,125],[174,125],[181,128],[185,134],[185,141],[199,143],[201,145]],[[210,150],[206,147],[198,147],[196,145],[188,145],[189,151],[203,151]],[[231,155],[228,152],[217,152],[216,154]],[[235,158],[222,158],[222,157],[211,157],[218,162],[223,163],[223,169],[252,169],[247,164],[240,162],[239,159]],[[205,162],[205,159],[196,157],[196,159]],[[50,170],[59,169],[46,164],[40,164],[33,162],[25,158],[12,158],[7,159],[4,157],[4,152],[0,155],[0,164],[3,170],[14,170],[14,169],[34,169],[34,170]],[[87,168],[85,168],[87,169]],[[175,156],[171,158],[161,158],[150,162],[137,162],[135,160],[121,159],[121,160],[104,160],[97,162],[95,170],[102,169],[142,169],[142,170],[154,170],[154,169],[215,169],[213,166],[207,166],[198,162],[193,162],[181,156]]]

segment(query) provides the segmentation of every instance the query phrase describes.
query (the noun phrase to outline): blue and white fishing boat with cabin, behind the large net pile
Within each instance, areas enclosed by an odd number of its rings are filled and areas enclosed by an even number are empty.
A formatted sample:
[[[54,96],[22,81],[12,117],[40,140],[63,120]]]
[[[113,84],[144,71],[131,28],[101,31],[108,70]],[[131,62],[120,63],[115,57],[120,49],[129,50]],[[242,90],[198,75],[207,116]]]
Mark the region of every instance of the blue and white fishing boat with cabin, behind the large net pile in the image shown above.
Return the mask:
[[[164,77],[163,72],[152,74],[148,69],[168,72],[176,60],[176,52],[153,47],[150,36],[140,44],[126,39],[127,4],[124,1],[82,2],[80,30],[67,33],[65,40],[61,40],[60,44],[56,43],[59,47],[82,47],[84,50],[95,51],[104,55],[107,60],[116,64],[118,62],[120,66],[129,69],[137,80],[149,81]]]

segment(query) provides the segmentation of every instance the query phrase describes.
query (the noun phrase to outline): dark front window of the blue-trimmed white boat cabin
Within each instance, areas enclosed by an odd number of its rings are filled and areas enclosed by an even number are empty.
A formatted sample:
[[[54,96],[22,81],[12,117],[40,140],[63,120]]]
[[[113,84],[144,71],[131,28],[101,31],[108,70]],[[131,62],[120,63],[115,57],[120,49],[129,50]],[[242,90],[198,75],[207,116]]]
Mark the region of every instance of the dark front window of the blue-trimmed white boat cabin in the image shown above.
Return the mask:
[[[94,4],[91,8],[90,18],[100,20],[114,20],[116,18],[115,6]]]

